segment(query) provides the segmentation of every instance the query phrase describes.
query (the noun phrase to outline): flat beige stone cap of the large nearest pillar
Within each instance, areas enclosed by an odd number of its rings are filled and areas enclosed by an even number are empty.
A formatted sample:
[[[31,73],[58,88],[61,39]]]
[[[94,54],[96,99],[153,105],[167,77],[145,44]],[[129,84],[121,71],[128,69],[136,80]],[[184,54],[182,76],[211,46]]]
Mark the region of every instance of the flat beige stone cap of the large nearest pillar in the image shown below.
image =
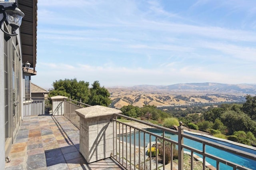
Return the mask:
[[[115,113],[122,113],[122,111],[118,109],[113,109],[113,108],[100,106],[100,105],[77,109],[75,112],[76,114],[78,114],[80,117],[84,119],[90,119],[90,118],[101,117],[101,116],[110,116]]]

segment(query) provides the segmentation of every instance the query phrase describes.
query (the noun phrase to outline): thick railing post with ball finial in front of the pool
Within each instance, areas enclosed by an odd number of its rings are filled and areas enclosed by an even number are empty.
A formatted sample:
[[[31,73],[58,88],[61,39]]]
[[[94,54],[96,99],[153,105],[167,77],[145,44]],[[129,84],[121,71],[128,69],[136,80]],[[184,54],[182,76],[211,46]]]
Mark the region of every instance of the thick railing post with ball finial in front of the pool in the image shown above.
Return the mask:
[[[180,126],[178,127],[178,170],[183,170],[183,160],[184,160],[184,148],[183,145],[183,126],[182,122],[179,122]]]

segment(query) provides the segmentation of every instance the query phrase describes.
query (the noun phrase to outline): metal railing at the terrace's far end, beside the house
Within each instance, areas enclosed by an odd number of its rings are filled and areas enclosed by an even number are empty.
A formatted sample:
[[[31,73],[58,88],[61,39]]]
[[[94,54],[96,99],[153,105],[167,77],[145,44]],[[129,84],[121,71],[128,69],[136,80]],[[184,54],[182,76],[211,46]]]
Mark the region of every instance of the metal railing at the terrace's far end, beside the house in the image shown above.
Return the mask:
[[[50,100],[48,97],[24,97],[23,113],[24,116],[49,115]]]

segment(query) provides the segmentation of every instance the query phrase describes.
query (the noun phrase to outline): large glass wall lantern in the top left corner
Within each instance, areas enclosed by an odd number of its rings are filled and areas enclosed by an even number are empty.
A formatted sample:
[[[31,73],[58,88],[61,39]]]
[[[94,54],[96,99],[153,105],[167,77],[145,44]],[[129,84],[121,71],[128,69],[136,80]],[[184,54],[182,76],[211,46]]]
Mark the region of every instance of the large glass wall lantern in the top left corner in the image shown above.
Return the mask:
[[[16,3],[6,8],[0,5],[0,14],[4,15],[3,19],[0,21],[0,28],[2,32],[8,34],[9,36],[18,35],[15,31],[20,28],[22,18],[25,16],[25,14],[19,8],[17,8]],[[8,24],[12,27],[12,34],[9,34],[2,29],[2,24],[4,23],[4,21],[7,21]]]

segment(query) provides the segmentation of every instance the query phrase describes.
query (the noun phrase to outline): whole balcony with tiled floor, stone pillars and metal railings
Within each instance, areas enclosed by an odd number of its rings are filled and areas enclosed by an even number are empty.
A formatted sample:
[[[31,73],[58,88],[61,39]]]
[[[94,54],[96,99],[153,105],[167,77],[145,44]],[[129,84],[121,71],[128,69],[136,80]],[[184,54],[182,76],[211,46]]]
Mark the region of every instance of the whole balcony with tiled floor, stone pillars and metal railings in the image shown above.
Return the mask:
[[[178,131],[120,114],[117,109],[90,106],[72,101],[66,97],[52,98],[52,113],[44,115],[44,107],[24,103],[26,111],[42,110],[42,115],[32,113],[24,117],[10,152],[10,162],[6,169],[184,169],[184,153],[191,155],[190,168],[198,160],[200,169],[219,170],[227,168],[249,170],[256,167],[256,148],[253,153],[234,149],[210,140],[188,134],[180,126]],[[44,103],[44,102],[39,102]],[[38,109],[39,107],[39,109]],[[24,115],[27,115],[24,113]],[[79,116],[78,116],[79,115]],[[127,122],[117,118],[123,117]],[[148,129],[156,129],[162,135]],[[171,133],[178,137],[168,138]],[[138,138],[135,136],[138,134]],[[82,136],[82,137],[81,137]],[[149,139],[146,139],[149,136]],[[153,138],[152,138],[153,137]],[[191,140],[200,144],[199,148],[184,142]],[[161,145],[162,144],[162,145]],[[148,145],[148,146],[147,146]],[[241,144],[240,144],[241,145]],[[162,149],[164,156],[159,160],[155,150]],[[164,147],[163,147],[164,146]],[[176,146],[176,147],[175,147]],[[224,150],[225,154],[243,156],[251,165],[242,165],[220,158],[208,152],[208,147]],[[178,162],[173,162],[174,148],[177,148]],[[246,148],[247,149],[247,148]],[[201,158],[198,154],[202,155]],[[170,162],[164,164],[166,159]],[[214,160],[209,164],[207,159]],[[248,163],[249,164],[249,163]]]

